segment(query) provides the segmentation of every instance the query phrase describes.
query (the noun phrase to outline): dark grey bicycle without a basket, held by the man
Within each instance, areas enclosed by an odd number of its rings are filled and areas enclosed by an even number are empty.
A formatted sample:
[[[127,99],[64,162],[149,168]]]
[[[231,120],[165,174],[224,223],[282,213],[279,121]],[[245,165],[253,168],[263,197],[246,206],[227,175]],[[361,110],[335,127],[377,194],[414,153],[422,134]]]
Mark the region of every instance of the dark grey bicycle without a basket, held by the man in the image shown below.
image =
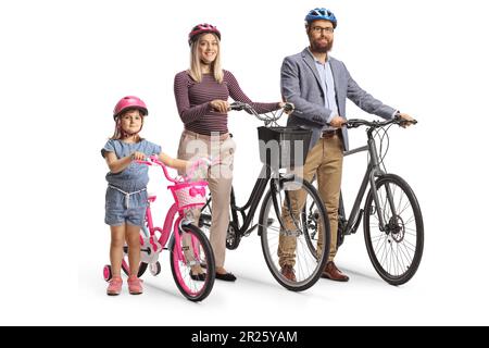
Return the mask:
[[[404,284],[413,277],[419,266],[424,247],[423,215],[416,196],[402,177],[388,174],[384,165],[384,158],[389,148],[387,132],[391,125],[402,126],[406,123],[400,117],[394,117],[383,122],[349,120],[346,124],[348,128],[359,126],[368,128],[367,145],[347,151],[344,156],[368,151],[369,160],[348,220],[340,195],[337,247],[342,245],[344,236],[356,233],[363,216],[368,257],[375,271],[391,285]],[[375,142],[377,136],[380,138],[380,157]],[[383,150],[386,140],[387,147]],[[364,208],[361,209],[367,186],[369,191]],[[316,212],[316,206],[309,204],[304,207],[302,214],[305,219],[303,224],[308,226],[308,243],[312,250],[315,248],[318,229],[315,225]]]

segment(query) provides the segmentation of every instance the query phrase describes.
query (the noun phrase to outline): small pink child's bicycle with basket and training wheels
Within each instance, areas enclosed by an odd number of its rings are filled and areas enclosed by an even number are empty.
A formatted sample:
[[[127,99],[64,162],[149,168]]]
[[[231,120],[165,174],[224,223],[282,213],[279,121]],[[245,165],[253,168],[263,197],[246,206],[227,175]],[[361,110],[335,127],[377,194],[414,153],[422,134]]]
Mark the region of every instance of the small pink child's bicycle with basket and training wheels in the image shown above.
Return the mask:
[[[156,197],[148,197],[146,225],[141,228],[139,238],[141,243],[141,263],[138,277],[148,268],[152,275],[158,275],[161,272],[161,265],[158,261],[160,252],[163,249],[170,250],[170,264],[178,289],[187,299],[201,301],[209,296],[214,286],[214,253],[209,239],[192,224],[193,221],[186,216],[185,210],[200,208],[205,204],[208,183],[172,178],[166,171],[166,166],[155,156],[138,162],[162,167],[166,179],[174,183],[167,188],[172,191],[175,200],[175,203],[166,213],[163,227],[158,227],[153,225],[151,214],[151,203],[155,201]],[[177,216],[176,220],[175,216]],[[127,247],[124,247],[124,254],[122,269],[128,275]],[[203,272],[202,265],[206,269],[204,276],[192,274],[192,269],[195,268]],[[112,278],[112,270],[109,264],[103,268],[103,277],[106,282]]]

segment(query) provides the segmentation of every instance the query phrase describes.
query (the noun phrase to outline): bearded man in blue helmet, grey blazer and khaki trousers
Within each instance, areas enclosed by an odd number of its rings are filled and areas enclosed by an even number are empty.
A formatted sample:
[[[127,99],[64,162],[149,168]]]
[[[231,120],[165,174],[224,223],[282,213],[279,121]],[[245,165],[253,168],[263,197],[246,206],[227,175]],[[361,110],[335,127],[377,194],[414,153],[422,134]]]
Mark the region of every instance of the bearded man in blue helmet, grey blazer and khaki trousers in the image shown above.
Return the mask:
[[[296,105],[288,126],[303,126],[313,130],[302,176],[311,181],[317,178],[318,191],[328,213],[331,244],[329,258],[322,276],[348,282],[334,263],[337,252],[338,204],[341,186],[343,150],[347,151],[348,133],[342,127],[346,122],[347,98],[363,111],[384,119],[396,115],[406,121],[408,114],[384,104],[368,95],[350,76],[344,64],[328,53],[333,48],[337,20],[331,11],[317,8],[305,16],[305,32],[310,47],[302,52],[287,57],[281,66],[281,94],[285,100]],[[292,207],[302,210],[303,195],[291,191]],[[291,225],[290,222],[286,225]],[[293,224],[293,223],[292,223]],[[293,227],[292,227],[293,228]],[[321,250],[321,246],[318,246]],[[296,237],[280,235],[279,264],[281,274],[294,281]]]

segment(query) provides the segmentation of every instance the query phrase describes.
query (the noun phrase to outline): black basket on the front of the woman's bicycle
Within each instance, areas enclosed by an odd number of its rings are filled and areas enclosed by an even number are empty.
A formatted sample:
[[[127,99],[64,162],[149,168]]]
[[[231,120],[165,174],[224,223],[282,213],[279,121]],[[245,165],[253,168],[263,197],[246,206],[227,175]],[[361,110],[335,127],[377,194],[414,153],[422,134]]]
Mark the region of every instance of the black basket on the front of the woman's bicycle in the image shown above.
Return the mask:
[[[277,170],[304,165],[311,129],[300,127],[259,127],[260,160]]]

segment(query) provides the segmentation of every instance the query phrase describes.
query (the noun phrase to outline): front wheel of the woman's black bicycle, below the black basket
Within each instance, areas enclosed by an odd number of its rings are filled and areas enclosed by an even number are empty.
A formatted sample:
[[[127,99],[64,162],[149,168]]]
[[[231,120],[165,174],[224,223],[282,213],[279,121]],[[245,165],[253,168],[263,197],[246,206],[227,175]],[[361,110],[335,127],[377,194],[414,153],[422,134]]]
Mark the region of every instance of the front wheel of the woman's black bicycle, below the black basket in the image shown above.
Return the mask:
[[[300,177],[281,178],[266,194],[260,212],[259,233],[266,264],[285,288],[302,291],[321,277],[329,254],[330,232],[326,209],[317,190]],[[316,207],[318,233],[311,238],[304,210]]]

